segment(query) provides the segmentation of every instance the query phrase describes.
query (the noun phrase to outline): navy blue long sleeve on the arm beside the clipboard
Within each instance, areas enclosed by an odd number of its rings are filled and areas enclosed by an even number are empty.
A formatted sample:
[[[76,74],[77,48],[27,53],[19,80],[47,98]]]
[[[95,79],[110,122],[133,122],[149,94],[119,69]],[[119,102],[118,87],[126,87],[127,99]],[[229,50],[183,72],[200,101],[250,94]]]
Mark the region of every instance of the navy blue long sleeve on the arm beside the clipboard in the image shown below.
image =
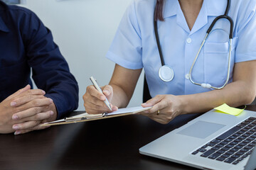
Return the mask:
[[[78,108],[78,82],[70,73],[68,63],[60,54],[53,36],[36,14],[23,23],[22,36],[32,78],[38,89],[46,91],[58,111],[58,119]]]

